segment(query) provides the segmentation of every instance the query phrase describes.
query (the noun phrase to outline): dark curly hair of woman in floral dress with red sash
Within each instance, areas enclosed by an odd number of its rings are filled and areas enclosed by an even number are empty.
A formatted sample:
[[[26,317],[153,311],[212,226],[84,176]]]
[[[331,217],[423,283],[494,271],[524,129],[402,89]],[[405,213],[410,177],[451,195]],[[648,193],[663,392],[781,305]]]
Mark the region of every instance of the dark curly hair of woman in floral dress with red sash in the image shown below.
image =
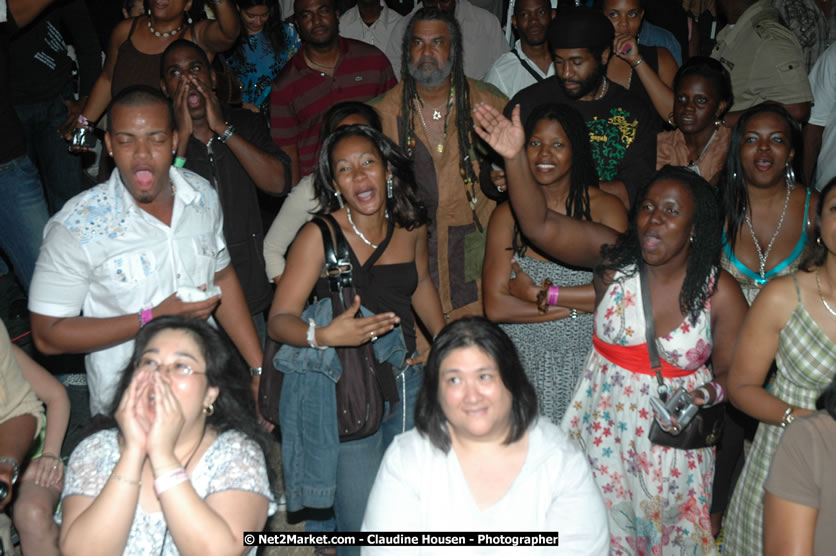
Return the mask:
[[[651,178],[650,182],[639,192],[637,197],[641,201],[636,203],[630,211],[630,225],[627,231],[618,237],[612,245],[601,248],[604,262],[598,265],[595,272],[599,275],[607,271],[622,271],[635,265],[632,276],[643,264],[642,250],[639,240],[636,219],[643,200],[650,188],[657,182],[673,180],[678,182],[694,200],[693,226],[694,234],[688,249],[688,263],[685,281],[679,292],[679,310],[689,316],[691,323],[696,323],[706,301],[714,295],[717,276],[720,271],[720,250],[722,249],[722,227],[720,208],[714,188],[696,173],[679,166],[665,166]]]

